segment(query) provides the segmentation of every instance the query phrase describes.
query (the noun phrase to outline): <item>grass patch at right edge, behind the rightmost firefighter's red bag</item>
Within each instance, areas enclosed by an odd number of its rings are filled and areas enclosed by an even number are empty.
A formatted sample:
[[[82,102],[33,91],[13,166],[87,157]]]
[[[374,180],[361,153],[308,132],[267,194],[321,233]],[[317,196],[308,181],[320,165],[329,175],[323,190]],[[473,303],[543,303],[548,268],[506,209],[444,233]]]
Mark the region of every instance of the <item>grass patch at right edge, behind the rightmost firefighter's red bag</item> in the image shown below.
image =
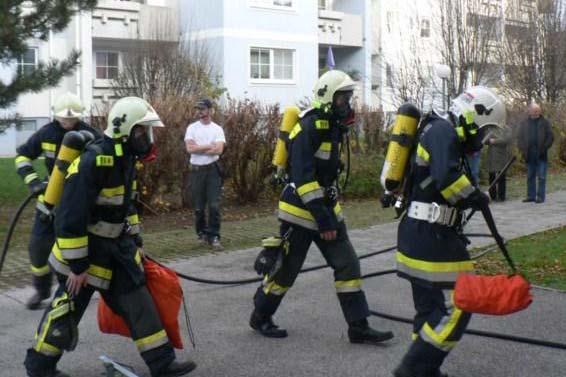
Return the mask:
[[[566,290],[566,227],[514,239],[507,248],[531,283]],[[508,271],[499,250],[479,258],[476,267],[485,274]]]

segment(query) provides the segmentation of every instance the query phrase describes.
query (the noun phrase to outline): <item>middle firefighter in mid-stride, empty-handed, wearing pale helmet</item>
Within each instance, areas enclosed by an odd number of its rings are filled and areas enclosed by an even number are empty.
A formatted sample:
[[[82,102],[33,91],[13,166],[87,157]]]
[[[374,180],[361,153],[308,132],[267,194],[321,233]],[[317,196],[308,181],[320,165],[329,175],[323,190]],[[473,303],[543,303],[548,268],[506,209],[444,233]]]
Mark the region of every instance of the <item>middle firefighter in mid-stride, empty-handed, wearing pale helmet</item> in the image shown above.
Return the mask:
[[[360,263],[348,238],[340,204],[337,178],[340,144],[353,122],[350,101],[354,82],[339,70],[323,74],[314,88],[313,108],[300,115],[289,133],[290,182],[279,200],[281,236],[288,236],[288,252],[281,268],[267,275],[254,296],[250,326],[271,338],[287,336],[272,316],[293,285],[314,241],[334,269],[338,301],[348,323],[352,343],[380,343],[393,338],[390,331],[372,329],[362,291]]]

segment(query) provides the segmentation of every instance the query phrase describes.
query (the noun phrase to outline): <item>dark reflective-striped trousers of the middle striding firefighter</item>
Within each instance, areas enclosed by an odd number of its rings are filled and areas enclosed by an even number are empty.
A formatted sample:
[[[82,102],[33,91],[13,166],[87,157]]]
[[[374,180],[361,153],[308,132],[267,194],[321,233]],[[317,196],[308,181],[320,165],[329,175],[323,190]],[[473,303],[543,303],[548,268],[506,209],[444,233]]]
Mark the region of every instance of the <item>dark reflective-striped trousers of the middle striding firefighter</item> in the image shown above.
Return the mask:
[[[290,224],[283,223],[281,235]],[[324,259],[334,270],[338,300],[346,322],[352,323],[369,316],[369,308],[361,290],[361,272],[358,256],[348,239],[346,226],[341,223],[337,239],[325,241],[318,232],[293,225],[289,237],[289,252],[283,257],[281,269],[274,276],[266,276],[254,296],[255,311],[263,317],[272,316],[287,290],[293,285],[311,243],[314,241]]]

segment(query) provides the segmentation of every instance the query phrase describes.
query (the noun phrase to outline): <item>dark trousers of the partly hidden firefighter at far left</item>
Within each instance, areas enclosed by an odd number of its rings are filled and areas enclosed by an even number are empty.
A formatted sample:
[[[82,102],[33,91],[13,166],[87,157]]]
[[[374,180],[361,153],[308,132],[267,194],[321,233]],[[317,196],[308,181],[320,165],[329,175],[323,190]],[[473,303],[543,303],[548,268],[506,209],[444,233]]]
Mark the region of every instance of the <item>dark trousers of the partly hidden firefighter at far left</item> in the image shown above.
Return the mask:
[[[31,263],[32,283],[36,291],[42,296],[49,296],[51,293],[53,274],[47,260],[49,259],[53,243],[55,243],[53,220],[44,218],[42,213],[36,210],[28,252]]]

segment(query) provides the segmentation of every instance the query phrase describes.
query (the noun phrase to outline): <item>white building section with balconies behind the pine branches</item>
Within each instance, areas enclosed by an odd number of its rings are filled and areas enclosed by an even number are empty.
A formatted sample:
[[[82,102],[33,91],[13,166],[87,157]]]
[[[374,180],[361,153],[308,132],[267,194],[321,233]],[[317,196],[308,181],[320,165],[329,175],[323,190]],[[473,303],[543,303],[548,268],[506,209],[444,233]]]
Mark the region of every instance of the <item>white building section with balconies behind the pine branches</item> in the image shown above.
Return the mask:
[[[22,121],[0,134],[0,156],[13,156],[19,144],[51,119],[52,104],[62,93],[76,93],[87,113],[109,105],[113,99],[111,82],[122,67],[124,52],[157,35],[167,41],[178,40],[179,4],[179,0],[100,0],[93,12],[73,17],[63,32],[50,35],[47,41],[29,41],[29,49],[17,62],[0,66],[0,80],[8,82],[15,70],[33,69],[40,60],[64,58],[73,48],[82,52],[81,62],[59,86],[22,95],[4,110],[17,113]]]

